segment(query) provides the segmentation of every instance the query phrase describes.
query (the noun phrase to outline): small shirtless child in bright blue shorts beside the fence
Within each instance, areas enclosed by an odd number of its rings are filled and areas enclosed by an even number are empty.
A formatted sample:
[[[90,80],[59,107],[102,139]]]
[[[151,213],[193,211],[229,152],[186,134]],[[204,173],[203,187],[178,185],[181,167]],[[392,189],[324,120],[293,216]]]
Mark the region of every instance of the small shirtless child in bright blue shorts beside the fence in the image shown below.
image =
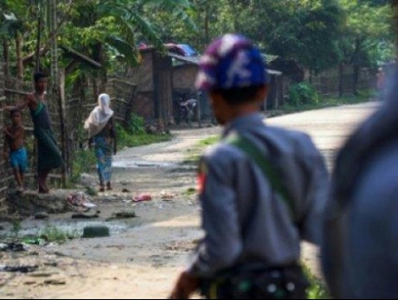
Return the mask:
[[[13,168],[15,181],[19,186],[19,191],[25,189],[25,172],[27,169],[27,153],[24,146],[25,128],[22,125],[22,113],[19,110],[12,110],[10,114],[11,125],[4,130],[4,149],[3,157],[9,158]],[[7,149],[8,148],[8,149]]]

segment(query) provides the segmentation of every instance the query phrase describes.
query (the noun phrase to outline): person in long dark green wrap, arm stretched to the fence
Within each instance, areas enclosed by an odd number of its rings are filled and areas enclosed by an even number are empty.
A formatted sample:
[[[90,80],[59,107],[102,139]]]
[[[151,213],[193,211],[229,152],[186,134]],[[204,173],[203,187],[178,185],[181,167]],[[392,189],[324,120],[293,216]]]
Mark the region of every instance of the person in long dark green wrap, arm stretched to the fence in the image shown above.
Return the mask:
[[[39,193],[48,193],[46,180],[50,172],[64,166],[61,151],[56,144],[55,135],[48,113],[45,90],[48,76],[35,73],[35,92],[25,96],[25,99],[15,106],[5,106],[5,110],[29,109],[34,124],[34,135],[37,143],[37,184]]]

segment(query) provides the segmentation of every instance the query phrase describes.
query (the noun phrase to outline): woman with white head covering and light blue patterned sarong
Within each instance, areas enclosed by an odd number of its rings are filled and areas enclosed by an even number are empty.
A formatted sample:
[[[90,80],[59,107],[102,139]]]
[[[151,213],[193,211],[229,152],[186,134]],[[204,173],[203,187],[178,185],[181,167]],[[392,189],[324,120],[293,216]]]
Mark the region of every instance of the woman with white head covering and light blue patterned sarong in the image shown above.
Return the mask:
[[[114,129],[114,111],[109,107],[111,98],[107,94],[98,96],[98,105],[85,120],[89,145],[95,145],[96,165],[99,176],[100,192],[112,190],[112,160],[116,154],[116,132]]]

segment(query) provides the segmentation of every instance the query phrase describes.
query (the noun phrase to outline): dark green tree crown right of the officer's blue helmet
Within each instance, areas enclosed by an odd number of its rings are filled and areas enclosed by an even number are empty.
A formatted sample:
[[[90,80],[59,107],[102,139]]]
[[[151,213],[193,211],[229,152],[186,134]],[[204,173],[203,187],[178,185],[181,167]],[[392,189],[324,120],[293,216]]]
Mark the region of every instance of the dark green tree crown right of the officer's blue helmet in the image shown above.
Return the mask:
[[[294,58],[315,73],[337,65],[343,11],[336,0],[274,1],[268,7],[271,54]]]

